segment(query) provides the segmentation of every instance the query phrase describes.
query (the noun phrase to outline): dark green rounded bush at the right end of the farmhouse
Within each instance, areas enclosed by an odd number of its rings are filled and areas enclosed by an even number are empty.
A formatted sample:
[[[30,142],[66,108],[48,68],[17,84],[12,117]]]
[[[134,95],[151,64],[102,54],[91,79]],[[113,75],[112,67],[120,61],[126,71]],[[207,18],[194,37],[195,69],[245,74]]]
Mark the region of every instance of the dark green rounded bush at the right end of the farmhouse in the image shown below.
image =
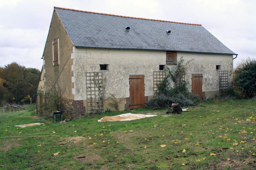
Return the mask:
[[[256,60],[247,58],[234,71],[234,94],[239,98],[256,96]]]

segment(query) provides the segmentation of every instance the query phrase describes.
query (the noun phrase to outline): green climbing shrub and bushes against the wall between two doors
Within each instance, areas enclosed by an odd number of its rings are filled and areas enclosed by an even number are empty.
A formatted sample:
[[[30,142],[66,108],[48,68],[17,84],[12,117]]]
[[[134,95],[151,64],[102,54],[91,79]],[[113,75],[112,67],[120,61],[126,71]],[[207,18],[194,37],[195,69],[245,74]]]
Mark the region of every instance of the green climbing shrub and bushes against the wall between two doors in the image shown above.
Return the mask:
[[[155,97],[151,98],[147,103],[146,107],[151,109],[166,109],[171,106],[172,103],[181,103],[180,106],[194,106],[199,104],[199,96],[193,95],[189,91],[189,82],[183,80],[188,64],[193,59],[184,63],[183,57],[177,62],[177,66],[174,71],[171,71],[169,67],[165,69],[166,77],[158,85],[158,90]],[[174,83],[171,86],[171,82]]]

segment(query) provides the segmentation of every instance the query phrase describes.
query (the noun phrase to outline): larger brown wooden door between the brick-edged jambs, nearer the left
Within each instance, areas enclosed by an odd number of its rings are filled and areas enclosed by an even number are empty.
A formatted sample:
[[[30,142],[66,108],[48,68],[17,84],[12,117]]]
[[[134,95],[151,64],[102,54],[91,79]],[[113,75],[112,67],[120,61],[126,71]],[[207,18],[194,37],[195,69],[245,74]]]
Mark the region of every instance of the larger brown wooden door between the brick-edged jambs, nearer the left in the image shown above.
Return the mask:
[[[130,109],[144,108],[144,75],[130,75]]]

